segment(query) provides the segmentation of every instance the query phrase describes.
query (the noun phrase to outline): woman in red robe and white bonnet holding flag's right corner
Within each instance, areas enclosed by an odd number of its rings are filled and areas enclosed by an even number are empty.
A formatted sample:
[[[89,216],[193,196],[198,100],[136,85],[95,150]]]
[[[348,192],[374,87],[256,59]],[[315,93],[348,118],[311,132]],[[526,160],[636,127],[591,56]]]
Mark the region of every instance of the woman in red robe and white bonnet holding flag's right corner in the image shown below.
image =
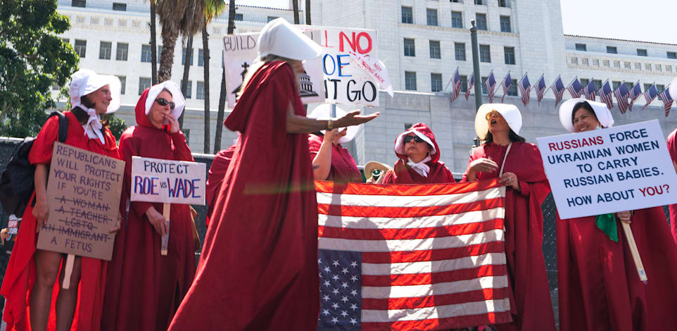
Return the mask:
[[[555,330],[543,259],[543,213],[550,193],[538,147],[519,137],[521,115],[514,105],[483,104],[475,117],[477,137],[463,181],[500,178],[505,192],[505,256],[513,322],[498,330]]]

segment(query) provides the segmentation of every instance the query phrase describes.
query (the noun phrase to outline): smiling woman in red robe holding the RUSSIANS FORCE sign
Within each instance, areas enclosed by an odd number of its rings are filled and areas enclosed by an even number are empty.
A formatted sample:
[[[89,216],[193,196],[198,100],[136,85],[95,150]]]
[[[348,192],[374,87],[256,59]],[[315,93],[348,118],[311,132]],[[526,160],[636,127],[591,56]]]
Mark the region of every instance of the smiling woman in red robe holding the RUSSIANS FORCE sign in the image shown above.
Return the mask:
[[[564,102],[559,120],[569,132],[614,124],[605,104],[585,99]],[[663,208],[608,216],[557,216],[559,330],[677,330],[677,246]],[[639,279],[621,222],[630,223],[646,285]]]

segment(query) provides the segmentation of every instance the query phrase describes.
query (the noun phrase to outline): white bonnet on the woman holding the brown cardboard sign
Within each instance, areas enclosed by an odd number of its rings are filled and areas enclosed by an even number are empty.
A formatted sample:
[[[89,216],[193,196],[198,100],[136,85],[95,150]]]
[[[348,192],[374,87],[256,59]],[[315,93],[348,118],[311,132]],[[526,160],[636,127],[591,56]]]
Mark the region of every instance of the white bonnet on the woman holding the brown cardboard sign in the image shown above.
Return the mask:
[[[82,104],[82,96],[90,94],[106,85],[110,88],[110,97],[112,98],[108,108],[106,108],[106,113],[117,111],[120,108],[120,90],[122,89],[120,78],[113,75],[99,75],[89,69],[77,70],[71,76],[70,89],[68,90],[68,94],[70,94],[70,106],[79,106],[87,111],[88,107]]]

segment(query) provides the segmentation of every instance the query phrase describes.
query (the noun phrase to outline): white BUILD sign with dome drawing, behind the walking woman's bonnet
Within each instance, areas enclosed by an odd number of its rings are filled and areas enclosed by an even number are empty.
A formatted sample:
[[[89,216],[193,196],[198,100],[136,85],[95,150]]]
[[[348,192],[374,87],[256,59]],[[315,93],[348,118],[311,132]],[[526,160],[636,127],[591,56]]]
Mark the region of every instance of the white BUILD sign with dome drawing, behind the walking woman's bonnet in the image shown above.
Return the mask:
[[[305,35],[319,44],[319,31],[305,29]],[[223,65],[226,75],[228,107],[235,106],[235,96],[240,90],[242,80],[258,55],[256,43],[260,32],[238,33],[223,37]],[[304,61],[305,73],[297,75],[298,92],[304,104],[324,102],[324,83],[319,58]]]

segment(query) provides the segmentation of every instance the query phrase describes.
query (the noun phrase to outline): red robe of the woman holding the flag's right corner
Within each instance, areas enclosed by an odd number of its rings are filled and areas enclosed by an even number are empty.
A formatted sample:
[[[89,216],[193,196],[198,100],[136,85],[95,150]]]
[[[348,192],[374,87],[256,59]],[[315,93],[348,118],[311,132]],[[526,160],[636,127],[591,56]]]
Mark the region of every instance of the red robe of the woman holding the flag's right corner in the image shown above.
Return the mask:
[[[472,151],[469,163],[478,158],[503,162],[507,146],[493,142]],[[478,180],[498,177],[499,170],[478,173]],[[503,173],[514,173],[520,192],[507,187],[505,192],[505,256],[512,296],[513,323],[496,325],[499,330],[555,330],[548,277],[543,259],[543,212],[540,205],[550,193],[538,147],[514,142],[505,160]],[[467,172],[463,180],[467,178]]]

